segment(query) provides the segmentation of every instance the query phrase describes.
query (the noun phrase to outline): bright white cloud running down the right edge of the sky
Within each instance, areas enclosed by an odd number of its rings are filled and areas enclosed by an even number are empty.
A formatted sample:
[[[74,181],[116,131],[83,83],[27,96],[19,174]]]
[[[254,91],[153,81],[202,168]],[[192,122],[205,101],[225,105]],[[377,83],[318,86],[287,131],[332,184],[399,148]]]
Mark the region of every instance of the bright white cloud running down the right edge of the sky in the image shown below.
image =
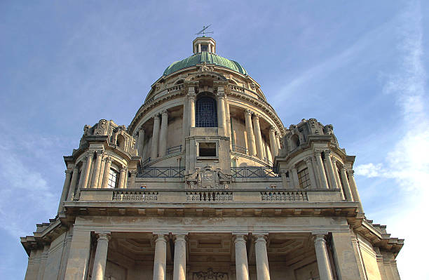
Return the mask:
[[[357,175],[368,178],[393,178],[402,192],[400,208],[392,209],[383,222],[388,222],[390,232],[402,236],[406,243],[398,256],[398,267],[404,279],[426,279],[429,276],[423,267],[425,262],[414,258],[428,245],[421,242],[417,225],[426,227],[423,216],[429,194],[429,117],[426,97],[426,72],[423,66],[423,27],[421,4],[409,4],[400,17],[397,33],[402,53],[397,71],[390,74],[384,92],[395,98],[402,119],[394,129],[404,131],[383,163],[368,163],[356,166]],[[380,222],[380,221],[377,221]],[[424,249],[423,247],[426,247]],[[408,269],[406,269],[408,267]]]

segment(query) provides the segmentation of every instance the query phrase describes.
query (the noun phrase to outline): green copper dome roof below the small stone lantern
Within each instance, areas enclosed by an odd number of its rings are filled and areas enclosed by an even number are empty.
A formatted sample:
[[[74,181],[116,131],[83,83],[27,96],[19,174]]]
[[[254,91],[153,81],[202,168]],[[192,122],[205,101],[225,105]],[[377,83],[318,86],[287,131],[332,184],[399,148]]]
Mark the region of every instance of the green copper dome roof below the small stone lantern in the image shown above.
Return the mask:
[[[244,69],[244,67],[241,66],[240,63],[234,60],[229,60],[228,58],[222,58],[222,56],[216,55],[214,53],[208,53],[207,51],[203,51],[202,53],[191,55],[189,58],[185,58],[184,60],[172,62],[172,64],[167,67],[167,69],[165,69],[163,75],[168,76],[176,71],[179,71],[180,69],[195,66],[204,62],[206,62],[207,64],[214,64],[217,66],[226,67],[243,75],[247,74],[246,69]]]

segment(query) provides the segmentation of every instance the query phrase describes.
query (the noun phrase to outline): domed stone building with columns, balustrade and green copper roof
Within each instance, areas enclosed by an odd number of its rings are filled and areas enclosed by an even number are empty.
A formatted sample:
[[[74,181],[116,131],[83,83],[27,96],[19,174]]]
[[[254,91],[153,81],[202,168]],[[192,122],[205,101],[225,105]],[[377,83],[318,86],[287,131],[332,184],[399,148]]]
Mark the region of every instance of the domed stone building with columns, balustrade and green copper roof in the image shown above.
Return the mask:
[[[192,49],[128,127],[83,128],[25,279],[400,279],[403,239],[365,217],[332,125],[285,128],[214,39]]]

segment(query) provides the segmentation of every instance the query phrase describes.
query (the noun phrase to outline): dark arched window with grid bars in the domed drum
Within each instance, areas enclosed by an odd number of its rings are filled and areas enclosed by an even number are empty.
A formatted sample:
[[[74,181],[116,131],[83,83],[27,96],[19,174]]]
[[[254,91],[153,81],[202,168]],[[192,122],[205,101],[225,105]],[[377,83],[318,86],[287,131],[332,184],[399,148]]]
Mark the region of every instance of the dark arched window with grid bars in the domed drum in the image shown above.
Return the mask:
[[[196,100],[195,126],[217,127],[216,100],[207,96]]]

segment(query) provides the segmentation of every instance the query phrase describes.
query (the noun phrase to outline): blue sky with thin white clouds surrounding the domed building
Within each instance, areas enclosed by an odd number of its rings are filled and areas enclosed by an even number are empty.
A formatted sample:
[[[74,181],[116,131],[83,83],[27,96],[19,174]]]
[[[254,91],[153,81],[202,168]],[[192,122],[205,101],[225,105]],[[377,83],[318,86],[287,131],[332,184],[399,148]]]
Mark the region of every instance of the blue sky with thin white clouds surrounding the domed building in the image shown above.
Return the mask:
[[[207,24],[285,126],[333,124],[357,156],[367,218],[406,239],[402,278],[429,278],[416,269],[429,250],[427,11],[426,1],[1,1],[1,278],[24,277],[18,237],[55,217],[62,156],[83,126],[130,124]]]

